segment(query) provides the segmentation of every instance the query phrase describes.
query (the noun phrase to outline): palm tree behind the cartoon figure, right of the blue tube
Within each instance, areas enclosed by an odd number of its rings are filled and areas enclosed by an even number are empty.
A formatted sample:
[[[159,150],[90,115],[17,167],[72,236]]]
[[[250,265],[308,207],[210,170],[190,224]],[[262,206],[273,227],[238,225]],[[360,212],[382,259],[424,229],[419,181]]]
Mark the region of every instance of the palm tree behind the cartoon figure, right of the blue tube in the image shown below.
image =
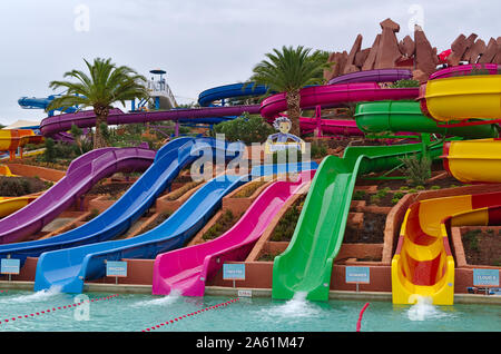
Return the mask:
[[[265,85],[267,91],[286,94],[287,114],[292,121],[291,134],[299,136],[299,90],[308,85],[324,82],[323,72],[332,63],[327,62],[328,53],[298,46],[297,48],[282,47],[282,51],[273,49],[272,53],[253,69],[250,81],[253,86]]]

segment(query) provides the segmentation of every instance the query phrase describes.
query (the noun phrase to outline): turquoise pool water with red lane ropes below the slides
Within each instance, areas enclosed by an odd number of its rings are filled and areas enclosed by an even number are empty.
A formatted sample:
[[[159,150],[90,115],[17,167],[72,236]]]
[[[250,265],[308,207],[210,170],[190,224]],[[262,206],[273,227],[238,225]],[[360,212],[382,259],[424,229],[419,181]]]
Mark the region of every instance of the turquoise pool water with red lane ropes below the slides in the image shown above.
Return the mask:
[[[72,295],[57,291],[3,292],[0,293],[0,331],[143,332],[148,328],[153,332],[355,332],[360,312],[365,304],[360,301],[308,302],[302,297],[276,301],[111,295]],[[364,312],[361,331],[499,332],[501,306],[432,306],[425,302],[397,306],[390,302],[371,302]]]

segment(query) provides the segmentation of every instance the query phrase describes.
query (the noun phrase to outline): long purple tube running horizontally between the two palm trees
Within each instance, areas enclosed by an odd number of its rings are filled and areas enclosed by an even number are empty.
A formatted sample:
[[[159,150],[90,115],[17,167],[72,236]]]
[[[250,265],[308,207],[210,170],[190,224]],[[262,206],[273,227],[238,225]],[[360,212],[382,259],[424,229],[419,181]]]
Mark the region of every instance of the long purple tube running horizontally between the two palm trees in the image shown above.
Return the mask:
[[[259,112],[259,105],[250,106],[227,106],[227,107],[204,107],[191,109],[171,109],[145,112],[124,112],[118,108],[110,109],[108,125],[140,124],[147,121],[197,119],[204,122],[204,118],[239,116],[243,112],[252,115]],[[94,110],[84,110],[75,114],[62,114],[47,117],[40,122],[40,131],[43,136],[52,136],[59,131],[71,129],[71,125],[79,128],[90,128],[96,125]]]

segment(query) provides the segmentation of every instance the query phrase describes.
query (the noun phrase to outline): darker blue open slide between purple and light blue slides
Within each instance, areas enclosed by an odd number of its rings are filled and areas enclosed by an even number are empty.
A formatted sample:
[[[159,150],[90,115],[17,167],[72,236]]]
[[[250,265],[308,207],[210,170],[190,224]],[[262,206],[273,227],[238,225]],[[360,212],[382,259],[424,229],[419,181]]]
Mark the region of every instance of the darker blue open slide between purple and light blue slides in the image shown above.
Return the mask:
[[[225,144],[216,144],[214,138],[174,139],[157,151],[151,166],[104,213],[82,226],[57,236],[0,245],[0,258],[21,259],[22,265],[27,257],[38,257],[43,252],[111,239],[127,230],[155,203],[185,166],[206,151],[217,154],[224,148]],[[227,154],[230,155],[230,153],[228,150]]]

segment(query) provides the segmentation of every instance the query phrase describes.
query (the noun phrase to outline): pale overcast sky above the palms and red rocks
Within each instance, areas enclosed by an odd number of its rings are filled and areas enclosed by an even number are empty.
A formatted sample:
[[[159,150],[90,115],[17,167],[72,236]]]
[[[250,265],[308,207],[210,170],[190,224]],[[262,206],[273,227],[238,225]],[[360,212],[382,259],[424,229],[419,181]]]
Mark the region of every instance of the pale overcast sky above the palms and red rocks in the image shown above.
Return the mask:
[[[401,26],[399,39],[412,37],[409,23],[422,23],[440,52],[460,33],[485,42],[501,36],[500,10],[499,0],[3,0],[0,122],[45,118],[18,99],[53,94],[49,81],[84,69],[82,58],[112,58],[147,77],[163,68],[185,104],[205,89],[245,81],[284,45],[348,51],[361,33],[365,48],[391,18]]]

